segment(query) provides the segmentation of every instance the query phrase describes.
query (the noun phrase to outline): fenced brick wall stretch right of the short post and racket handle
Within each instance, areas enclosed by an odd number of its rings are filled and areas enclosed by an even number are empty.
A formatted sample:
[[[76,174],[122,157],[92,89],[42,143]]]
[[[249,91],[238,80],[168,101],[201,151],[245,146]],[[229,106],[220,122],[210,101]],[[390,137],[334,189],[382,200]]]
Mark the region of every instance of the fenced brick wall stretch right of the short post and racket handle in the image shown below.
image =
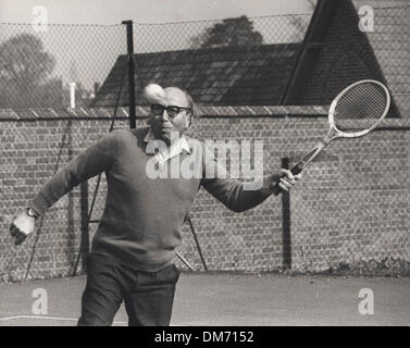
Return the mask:
[[[410,274],[409,130],[336,141],[306,171],[288,202],[293,271]]]

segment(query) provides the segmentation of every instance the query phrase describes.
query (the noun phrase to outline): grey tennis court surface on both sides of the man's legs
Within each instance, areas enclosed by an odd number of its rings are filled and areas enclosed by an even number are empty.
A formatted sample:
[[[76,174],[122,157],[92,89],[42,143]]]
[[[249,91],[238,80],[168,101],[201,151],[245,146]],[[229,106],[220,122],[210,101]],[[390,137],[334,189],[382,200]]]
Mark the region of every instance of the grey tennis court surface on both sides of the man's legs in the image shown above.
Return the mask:
[[[86,278],[0,285],[0,325],[76,325]],[[36,315],[32,297],[47,291],[47,314]],[[373,314],[361,314],[371,300]],[[182,273],[172,325],[410,325],[409,277],[284,276],[277,274]],[[370,302],[364,306],[370,309]],[[363,306],[362,306],[363,308]],[[121,307],[114,325],[126,325]]]

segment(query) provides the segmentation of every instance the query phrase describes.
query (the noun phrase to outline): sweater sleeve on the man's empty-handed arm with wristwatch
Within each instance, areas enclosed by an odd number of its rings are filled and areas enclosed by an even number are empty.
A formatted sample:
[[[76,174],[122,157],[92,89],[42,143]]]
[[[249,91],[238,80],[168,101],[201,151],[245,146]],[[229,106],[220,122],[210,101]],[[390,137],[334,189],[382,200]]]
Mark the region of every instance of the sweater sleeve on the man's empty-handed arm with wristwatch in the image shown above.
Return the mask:
[[[78,184],[110,169],[116,158],[116,132],[94,144],[53,175],[28,204],[36,213],[45,211]]]

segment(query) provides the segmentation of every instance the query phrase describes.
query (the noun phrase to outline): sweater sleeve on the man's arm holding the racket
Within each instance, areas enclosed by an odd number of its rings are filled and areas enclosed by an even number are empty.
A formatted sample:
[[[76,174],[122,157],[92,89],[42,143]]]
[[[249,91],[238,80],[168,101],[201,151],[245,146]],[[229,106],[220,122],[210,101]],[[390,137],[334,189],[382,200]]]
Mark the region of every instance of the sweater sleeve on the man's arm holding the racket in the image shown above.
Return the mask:
[[[271,196],[271,191],[262,188],[262,185],[258,189],[245,189],[244,183],[229,178],[226,169],[218,163],[208,148],[204,148],[203,163],[201,185],[232,211],[252,209]]]

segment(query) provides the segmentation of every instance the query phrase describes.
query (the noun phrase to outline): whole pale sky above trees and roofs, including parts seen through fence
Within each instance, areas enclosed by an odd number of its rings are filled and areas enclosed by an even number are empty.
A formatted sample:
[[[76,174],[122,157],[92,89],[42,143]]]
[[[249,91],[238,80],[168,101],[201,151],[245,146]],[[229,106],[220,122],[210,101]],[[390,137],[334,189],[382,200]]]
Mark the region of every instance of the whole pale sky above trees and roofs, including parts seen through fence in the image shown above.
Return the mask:
[[[102,83],[107,78],[116,58],[126,52],[122,21],[162,24],[223,20],[240,15],[258,17],[312,13],[312,2],[314,0],[0,0],[0,44],[23,32],[38,36],[46,51],[57,60],[53,76],[62,78],[64,83],[79,80],[90,89],[95,82]],[[33,28],[38,18],[38,7],[46,9],[47,23],[50,24],[45,33],[35,33]],[[254,28],[262,35],[263,30],[269,29],[269,34],[277,36],[281,34],[276,33],[277,28],[283,29],[282,25],[263,27],[259,26],[258,21],[253,22]],[[103,27],[98,27],[100,25]],[[194,27],[201,26],[192,25],[189,29]],[[184,49],[189,42],[188,34],[194,34],[186,28],[181,25],[149,25],[144,28],[134,26],[135,50],[145,52]],[[73,74],[73,71],[76,73]],[[72,77],[73,75],[76,77]]]

